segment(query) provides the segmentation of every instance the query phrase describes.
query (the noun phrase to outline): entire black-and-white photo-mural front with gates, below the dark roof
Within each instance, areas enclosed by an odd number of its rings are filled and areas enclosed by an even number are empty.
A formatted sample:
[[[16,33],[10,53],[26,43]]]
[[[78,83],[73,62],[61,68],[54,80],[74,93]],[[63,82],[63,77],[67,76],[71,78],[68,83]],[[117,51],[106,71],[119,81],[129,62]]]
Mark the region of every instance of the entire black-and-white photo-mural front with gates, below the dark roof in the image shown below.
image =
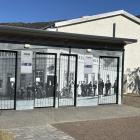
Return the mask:
[[[0,109],[13,109],[14,100],[19,110],[121,103],[121,51],[1,43],[3,48],[11,50],[0,51]],[[30,62],[22,51],[31,52]]]

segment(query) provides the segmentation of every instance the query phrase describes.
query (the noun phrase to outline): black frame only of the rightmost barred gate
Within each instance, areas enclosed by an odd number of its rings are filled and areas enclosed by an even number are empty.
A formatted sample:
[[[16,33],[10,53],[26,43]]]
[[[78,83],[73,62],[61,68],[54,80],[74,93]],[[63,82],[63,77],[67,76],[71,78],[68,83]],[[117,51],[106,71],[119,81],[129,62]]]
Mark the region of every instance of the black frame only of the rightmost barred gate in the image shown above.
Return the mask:
[[[120,66],[120,57],[117,56],[99,56],[99,69],[98,69],[98,82],[99,82],[99,75],[100,75],[100,60],[102,58],[113,58],[117,59],[117,93],[116,93],[116,102],[115,103],[99,103],[99,93],[98,93],[98,105],[109,105],[109,104],[118,104],[118,96],[119,96],[119,66]]]

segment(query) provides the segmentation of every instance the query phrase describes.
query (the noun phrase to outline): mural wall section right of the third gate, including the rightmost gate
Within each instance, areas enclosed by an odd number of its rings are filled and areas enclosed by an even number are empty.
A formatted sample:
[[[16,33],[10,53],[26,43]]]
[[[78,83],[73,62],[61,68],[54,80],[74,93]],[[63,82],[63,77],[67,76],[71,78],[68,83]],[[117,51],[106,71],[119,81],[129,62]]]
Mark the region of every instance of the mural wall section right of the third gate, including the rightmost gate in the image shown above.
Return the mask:
[[[77,106],[120,103],[121,53],[81,50],[77,54]]]

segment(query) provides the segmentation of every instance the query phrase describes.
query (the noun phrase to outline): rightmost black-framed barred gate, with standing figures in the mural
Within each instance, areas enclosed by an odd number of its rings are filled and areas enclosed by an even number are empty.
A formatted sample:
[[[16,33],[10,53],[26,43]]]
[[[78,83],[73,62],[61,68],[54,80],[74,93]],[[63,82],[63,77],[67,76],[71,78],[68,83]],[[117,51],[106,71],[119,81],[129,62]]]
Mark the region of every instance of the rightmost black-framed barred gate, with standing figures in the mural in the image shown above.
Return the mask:
[[[118,103],[119,58],[101,56],[99,60],[98,103]]]

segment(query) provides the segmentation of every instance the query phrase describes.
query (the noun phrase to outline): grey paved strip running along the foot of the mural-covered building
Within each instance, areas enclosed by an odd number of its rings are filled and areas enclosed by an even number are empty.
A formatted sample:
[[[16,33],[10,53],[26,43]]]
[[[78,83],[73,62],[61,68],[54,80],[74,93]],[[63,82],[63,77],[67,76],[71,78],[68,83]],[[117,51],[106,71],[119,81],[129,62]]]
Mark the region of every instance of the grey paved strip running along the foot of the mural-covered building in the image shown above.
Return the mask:
[[[78,108],[38,108],[34,110],[4,110],[0,113],[0,128],[40,126],[52,123],[139,116],[140,108],[122,105],[102,105]]]

